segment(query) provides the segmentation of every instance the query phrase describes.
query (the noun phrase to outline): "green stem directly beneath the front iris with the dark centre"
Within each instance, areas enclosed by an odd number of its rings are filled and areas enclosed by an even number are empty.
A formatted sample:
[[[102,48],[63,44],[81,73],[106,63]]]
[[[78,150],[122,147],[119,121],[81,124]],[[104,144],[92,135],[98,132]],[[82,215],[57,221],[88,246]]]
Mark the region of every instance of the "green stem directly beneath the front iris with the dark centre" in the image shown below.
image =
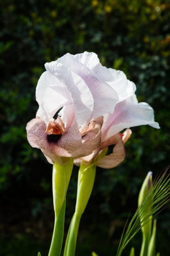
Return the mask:
[[[52,171],[52,193],[54,202],[55,222],[52,242],[48,256],[59,256],[61,253],[63,234],[66,193],[72,173],[73,159],[69,158],[68,164],[54,163]]]

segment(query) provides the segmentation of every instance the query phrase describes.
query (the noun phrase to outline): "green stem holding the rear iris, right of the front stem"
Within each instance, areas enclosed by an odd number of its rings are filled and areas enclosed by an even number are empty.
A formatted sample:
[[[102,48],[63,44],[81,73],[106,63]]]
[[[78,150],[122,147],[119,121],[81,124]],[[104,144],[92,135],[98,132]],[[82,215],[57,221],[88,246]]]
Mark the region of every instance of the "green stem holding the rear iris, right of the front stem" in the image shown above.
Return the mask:
[[[94,180],[96,174],[95,165],[88,167],[87,165],[81,164],[78,173],[78,188],[77,188],[77,199],[75,213],[72,217],[67,239],[65,243],[64,256],[74,256],[76,248],[76,240],[79,228],[79,222],[82,214],[86,208],[88,200],[91,196]]]

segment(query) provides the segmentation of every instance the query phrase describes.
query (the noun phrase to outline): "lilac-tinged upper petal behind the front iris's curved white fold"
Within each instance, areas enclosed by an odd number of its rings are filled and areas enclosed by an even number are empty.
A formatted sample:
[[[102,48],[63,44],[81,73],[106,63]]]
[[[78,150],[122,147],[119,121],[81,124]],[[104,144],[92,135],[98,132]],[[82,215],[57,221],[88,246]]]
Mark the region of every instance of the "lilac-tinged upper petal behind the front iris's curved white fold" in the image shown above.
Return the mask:
[[[91,56],[91,54],[89,56]],[[90,119],[101,116],[108,112],[113,112],[114,106],[118,102],[118,95],[112,86],[109,86],[105,80],[103,80],[91,69],[87,68],[78,60],[78,58],[75,58],[74,55],[67,53],[59,58],[57,62],[67,66],[69,70],[80,76],[86,85],[88,85],[94,100],[93,111]],[[104,67],[102,67],[102,69],[104,69]],[[108,72],[107,79],[110,79],[110,72]]]

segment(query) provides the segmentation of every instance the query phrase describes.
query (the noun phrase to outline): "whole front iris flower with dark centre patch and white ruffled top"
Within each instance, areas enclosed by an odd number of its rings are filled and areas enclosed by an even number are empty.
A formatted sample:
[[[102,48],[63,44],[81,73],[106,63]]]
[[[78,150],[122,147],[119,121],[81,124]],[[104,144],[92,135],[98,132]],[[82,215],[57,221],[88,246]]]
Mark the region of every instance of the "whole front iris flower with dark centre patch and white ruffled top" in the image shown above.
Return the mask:
[[[50,163],[66,164],[68,157],[84,157],[100,146],[102,116],[113,112],[119,101],[114,87],[126,88],[127,79],[115,79],[97,55],[88,52],[67,53],[45,68],[36,88],[39,108],[27,124],[27,138]]]

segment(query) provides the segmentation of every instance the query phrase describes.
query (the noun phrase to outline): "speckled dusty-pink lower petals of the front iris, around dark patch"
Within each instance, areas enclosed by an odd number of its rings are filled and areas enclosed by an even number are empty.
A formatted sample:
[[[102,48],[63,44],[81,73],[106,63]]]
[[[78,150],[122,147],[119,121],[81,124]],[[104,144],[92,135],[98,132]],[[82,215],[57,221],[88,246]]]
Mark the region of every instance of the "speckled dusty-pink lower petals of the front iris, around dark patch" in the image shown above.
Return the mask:
[[[27,124],[27,138],[32,147],[41,148],[45,156],[53,162],[58,162],[58,157],[79,158],[91,154],[99,147],[101,125],[92,121],[92,126],[93,131],[83,137],[77,125],[68,128],[63,135],[47,135],[45,122],[35,118]]]

